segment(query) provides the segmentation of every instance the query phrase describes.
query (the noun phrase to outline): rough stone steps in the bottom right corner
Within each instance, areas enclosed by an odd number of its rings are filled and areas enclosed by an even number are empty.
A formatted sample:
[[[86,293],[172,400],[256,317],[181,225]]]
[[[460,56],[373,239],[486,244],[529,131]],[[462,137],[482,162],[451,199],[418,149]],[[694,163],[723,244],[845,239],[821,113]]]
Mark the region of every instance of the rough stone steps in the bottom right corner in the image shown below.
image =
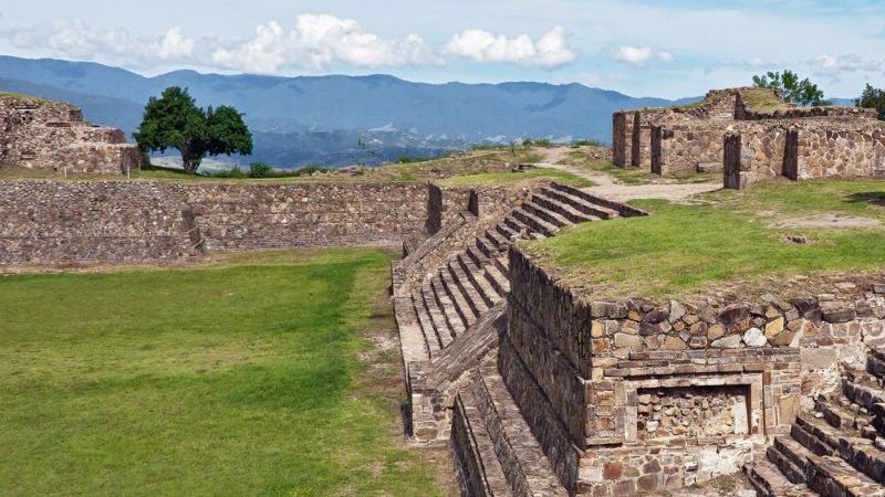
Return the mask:
[[[846,370],[842,391],[819,396],[766,456],[745,468],[760,496],[885,496],[885,355]]]

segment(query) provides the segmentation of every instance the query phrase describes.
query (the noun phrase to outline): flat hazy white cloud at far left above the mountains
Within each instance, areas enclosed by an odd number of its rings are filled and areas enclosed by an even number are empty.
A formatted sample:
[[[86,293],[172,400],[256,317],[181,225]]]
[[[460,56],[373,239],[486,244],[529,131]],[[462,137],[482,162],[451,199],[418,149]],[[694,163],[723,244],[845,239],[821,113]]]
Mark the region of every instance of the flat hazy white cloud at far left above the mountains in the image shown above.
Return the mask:
[[[9,31],[13,46],[48,50],[73,59],[106,57],[146,66],[157,62],[187,61],[196,41],[175,27],[162,36],[133,36],[126,30],[94,29],[80,19]]]

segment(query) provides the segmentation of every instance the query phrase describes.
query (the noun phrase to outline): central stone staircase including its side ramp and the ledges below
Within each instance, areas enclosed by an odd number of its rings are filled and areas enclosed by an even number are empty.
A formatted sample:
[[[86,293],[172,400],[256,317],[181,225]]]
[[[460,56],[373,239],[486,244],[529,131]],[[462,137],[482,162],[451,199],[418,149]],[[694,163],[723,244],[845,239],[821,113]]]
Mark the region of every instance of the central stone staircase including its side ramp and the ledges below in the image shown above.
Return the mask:
[[[646,213],[551,183],[419,285],[395,288],[409,394],[406,431],[416,441],[448,440],[465,495],[568,495],[499,373],[510,245],[576,223]]]

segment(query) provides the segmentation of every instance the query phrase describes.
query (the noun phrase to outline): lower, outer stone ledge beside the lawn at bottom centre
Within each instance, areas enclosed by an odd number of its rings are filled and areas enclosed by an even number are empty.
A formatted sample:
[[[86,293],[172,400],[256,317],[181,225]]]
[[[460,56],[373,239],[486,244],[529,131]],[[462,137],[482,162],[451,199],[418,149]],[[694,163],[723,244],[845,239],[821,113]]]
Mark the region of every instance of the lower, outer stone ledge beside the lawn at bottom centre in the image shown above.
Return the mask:
[[[464,495],[507,496],[512,493],[470,389],[455,396],[449,450]]]

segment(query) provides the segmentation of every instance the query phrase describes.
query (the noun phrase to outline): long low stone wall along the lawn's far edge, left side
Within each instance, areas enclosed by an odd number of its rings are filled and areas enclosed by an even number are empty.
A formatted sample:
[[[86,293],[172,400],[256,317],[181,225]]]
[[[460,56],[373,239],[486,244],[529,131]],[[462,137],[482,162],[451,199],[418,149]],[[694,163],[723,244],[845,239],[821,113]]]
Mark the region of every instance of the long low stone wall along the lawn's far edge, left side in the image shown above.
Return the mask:
[[[424,184],[8,181],[0,182],[0,264],[397,246],[424,233],[426,221]]]

